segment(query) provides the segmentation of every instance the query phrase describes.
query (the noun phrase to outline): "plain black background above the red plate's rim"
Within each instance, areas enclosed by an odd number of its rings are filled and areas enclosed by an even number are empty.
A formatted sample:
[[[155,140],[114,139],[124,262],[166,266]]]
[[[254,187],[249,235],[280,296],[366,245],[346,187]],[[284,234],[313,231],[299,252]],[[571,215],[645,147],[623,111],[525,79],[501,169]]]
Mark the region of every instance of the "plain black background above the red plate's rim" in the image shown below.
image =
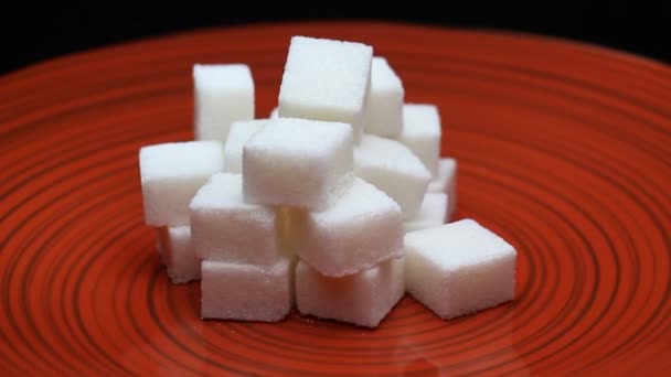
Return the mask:
[[[670,1],[365,2],[207,1],[46,4],[22,1],[2,9],[0,74],[53,56],[198,28],[299,20],[382,20],[452,28],[521,31],[599,44],[671,63]],[[309,4],[309,6],[308,6]],[[403,4],[403,7],[401,7]],[[374,10],[363,10],[370,7]]]

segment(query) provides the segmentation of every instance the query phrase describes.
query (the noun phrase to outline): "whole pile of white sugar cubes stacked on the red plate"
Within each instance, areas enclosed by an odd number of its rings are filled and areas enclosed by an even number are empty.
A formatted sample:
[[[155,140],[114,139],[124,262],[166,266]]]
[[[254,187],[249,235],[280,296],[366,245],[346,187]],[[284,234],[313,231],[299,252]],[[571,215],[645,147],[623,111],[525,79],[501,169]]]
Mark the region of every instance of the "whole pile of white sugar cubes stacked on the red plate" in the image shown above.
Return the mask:
[[[375,327],[407,291],[443,319],[512,300],[515,250],[448,223],[454,159],[433,105],[404,104],[371,46],[294,36],[278,103],[254,119],[243,64],[195,65],[196,141],[140,149],[146,224],[203,319],[274,322],[296,308]]]

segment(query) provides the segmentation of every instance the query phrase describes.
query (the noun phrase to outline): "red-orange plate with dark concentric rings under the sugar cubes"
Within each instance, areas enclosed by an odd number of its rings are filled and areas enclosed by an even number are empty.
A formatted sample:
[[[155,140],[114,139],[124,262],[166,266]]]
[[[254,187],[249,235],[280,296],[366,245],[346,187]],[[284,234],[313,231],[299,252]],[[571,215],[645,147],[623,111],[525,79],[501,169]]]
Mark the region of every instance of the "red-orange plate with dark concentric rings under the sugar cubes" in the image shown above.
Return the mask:
[[[203,322],[142,223],[141,146],[192,138],[193,63],[243,62],[257,116],[289,36],[370,43],[434,103],[457,217],[519,251],[516,299],[377,330]],[[671,69],[542,37],[377,23],[209,30],[0,78],[3,375],[659,374],[671,369]]]

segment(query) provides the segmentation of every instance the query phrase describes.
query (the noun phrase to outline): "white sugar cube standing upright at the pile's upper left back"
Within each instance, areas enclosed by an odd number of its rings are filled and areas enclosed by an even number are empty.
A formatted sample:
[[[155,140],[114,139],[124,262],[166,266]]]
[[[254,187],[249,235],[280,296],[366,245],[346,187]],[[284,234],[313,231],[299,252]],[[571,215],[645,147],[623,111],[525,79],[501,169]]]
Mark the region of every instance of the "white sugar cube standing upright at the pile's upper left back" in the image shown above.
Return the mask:
[[[236,120],[254,119],[254,80],[245,64],[193,65],[196,140],[226,141]]]

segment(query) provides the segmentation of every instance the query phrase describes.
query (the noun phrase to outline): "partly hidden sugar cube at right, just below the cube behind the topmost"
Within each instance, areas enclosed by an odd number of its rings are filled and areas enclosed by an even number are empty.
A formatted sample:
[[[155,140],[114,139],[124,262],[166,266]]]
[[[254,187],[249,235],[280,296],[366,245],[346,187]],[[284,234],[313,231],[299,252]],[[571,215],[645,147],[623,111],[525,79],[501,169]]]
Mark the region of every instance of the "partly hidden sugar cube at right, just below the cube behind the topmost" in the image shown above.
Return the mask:
[[[440,115],[434,105],[403,106],[403,131],[398,141],[407,146],[435,176],[440,158]]]

